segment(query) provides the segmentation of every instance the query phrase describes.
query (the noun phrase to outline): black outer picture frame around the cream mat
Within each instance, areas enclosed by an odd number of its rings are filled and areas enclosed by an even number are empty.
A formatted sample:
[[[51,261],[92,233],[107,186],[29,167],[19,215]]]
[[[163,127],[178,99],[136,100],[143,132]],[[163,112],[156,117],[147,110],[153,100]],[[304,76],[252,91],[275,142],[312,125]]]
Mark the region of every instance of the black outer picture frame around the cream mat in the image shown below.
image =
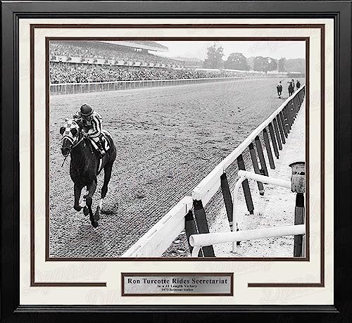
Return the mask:
[[[134,312],[163,322],[213,322],[232,315],[268,313],[270,322],[295,318],[313,322],[351,322],[351,1],[108,1],[1,3],[1,318],[4,322],[93,322]],[[334,305],[277,306],[66,306],[20,305],[19,302],[19,144],[18,23],[21,18],[333,18],[334,19]],[[90,313],[91,315],[87,315]],[[196,313],[198,313],[196,315]],[[201,314],[200,314],[201,313]],[[271,314],[270,314],[271,313]],[[195,316],[196,315],[196,316]],[[240,317],[236,317],[240,319]],[[291,322],[291,321],[289,321]]]

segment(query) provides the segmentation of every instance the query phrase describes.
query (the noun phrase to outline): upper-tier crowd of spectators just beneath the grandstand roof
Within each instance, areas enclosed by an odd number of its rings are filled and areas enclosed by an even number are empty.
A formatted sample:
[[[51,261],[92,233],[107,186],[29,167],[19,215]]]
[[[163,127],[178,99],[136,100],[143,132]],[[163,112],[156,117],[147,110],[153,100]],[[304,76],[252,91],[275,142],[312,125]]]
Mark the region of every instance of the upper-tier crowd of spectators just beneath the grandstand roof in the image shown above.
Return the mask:
[[[116,46],[101,42],[51,42],[50,54],[51,56],[102,58],[115,61],[180,65],[180,61],[156,56],[148,53],[148,51],[135,51],[132,47]]]

